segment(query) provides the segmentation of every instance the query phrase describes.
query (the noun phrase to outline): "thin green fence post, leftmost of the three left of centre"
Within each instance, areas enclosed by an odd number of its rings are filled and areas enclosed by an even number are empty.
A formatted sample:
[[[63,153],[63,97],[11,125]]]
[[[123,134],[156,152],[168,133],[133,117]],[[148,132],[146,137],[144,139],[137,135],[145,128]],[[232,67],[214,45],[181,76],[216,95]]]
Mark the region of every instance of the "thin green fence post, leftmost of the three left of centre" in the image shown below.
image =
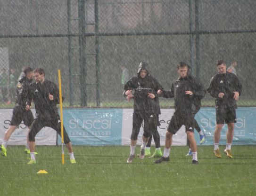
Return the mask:
[[[71,44],[71,5],[70,0],[67,0],[67,41],[68,41],[68,78],[69,78],[69,105],[73,106],[73,73],[72,73],[72,44]]]

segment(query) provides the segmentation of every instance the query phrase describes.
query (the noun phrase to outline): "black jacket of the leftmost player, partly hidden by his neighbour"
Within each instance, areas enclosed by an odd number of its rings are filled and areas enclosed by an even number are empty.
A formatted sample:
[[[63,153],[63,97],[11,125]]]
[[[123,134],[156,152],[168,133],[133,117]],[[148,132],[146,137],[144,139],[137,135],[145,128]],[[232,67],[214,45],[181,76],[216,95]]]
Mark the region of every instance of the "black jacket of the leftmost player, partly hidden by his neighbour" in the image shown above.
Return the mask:
[[[22,74],[18,79],[18,83],[16,86],[16,106],[21,106],[25,110],[26,106],[26,97],[28,94],[29,85],[31,84],[33,79],[29,79]]]

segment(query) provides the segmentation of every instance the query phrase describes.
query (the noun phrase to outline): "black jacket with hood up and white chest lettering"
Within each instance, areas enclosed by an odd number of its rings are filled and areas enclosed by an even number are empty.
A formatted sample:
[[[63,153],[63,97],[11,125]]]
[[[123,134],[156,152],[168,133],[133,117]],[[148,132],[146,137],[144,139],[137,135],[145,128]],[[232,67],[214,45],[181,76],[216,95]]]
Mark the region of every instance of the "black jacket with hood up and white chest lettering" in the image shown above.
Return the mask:
[[[140,71],[147,70],[148,75],[145,78],[140,77]],[[134,112],[143,112],[150,114],[160,114],[160,106],[158,101],[157,90],[162,89],[162,86],[156,78],[149,74],[148,64],[141,62],[138,74],[132,77],[124,86],[124,96],[127,90],[134,90]],[[155,98],[151,99],[148,94],[155,94]]]

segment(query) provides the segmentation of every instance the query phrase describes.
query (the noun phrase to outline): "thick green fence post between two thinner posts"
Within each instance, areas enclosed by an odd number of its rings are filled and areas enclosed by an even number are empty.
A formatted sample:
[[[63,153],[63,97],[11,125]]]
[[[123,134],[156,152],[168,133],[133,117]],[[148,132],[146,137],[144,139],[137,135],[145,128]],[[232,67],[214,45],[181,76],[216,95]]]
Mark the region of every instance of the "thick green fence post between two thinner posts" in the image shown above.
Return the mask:
[[[78,0],[78,17],[79,17],[79,55],[80,55],[80,91],[81,106],[87,106],[86,94],[86,62],[85,62],[85,1]]]

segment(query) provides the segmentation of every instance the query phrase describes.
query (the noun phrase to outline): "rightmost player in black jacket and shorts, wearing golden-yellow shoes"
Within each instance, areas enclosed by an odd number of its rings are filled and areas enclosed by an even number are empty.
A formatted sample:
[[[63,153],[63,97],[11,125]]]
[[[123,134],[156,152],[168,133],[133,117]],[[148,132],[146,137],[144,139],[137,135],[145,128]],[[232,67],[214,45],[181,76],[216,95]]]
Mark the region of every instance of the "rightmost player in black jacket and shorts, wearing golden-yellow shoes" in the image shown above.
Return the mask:
[[[237,76],[227,71],[227,65],[223,60],[216,64],[218,73],[211,79],[207,92],[215,98],[216,126],[214,132],[214,154],[221,158],[219,141],[224,123],[228,125],[227,145],[224,153],[232,158],[231,144],[234,135],[234,123],[236,123],[236,109],[239,96],[242,93],[242,85]]]

